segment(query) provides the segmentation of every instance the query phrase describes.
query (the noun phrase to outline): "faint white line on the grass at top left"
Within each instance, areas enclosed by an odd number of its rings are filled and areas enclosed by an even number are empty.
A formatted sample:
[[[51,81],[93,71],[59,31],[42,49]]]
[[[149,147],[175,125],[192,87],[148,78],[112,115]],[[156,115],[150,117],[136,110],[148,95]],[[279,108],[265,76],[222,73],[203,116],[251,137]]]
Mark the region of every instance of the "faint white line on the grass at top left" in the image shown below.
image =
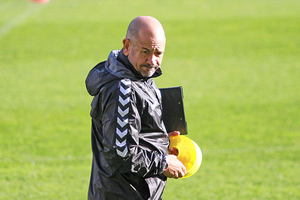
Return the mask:
[[[33,14],[37,13],[38,11],[43,8],[44,5],[42,6],[30,6],[26,10],[24,10],[22,13],[19,15],[15,16],[14,18],[8,20],[6,23],[4,23],[0,27],[0,39],[7,34],[10,30],[12,30],[14,27],[18,26],[22,22],[26,21],[30,16]]]

